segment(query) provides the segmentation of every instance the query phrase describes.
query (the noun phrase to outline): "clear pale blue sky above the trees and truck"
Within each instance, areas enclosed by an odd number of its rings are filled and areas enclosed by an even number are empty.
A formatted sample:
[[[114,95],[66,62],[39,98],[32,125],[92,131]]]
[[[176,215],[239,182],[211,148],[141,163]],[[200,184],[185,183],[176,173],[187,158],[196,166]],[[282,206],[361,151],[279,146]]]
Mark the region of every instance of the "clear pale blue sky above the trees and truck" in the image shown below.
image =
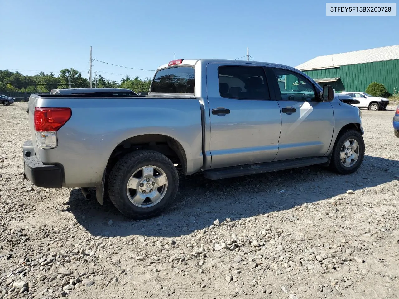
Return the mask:
[[[73,67],[87,77],[90,46],[94,59],[153,70],[174,53],[237,59],[249,47],[256,61],[296,66],[399,44],[398,16],[327,17],[320,0],[0,0],[0,11],[0,69],[25,75]],[[115,81],[122,76],[107,73],[153,75],[95,61],[96,70]]]

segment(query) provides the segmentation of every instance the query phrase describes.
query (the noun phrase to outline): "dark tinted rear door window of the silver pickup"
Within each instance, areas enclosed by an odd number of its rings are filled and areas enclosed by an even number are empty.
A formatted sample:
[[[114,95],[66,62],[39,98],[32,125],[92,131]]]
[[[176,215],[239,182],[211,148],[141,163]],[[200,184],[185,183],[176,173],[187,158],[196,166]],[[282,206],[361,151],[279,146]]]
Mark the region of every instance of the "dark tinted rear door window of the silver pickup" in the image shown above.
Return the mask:
[[[269,100],[263,67],[223,66],[218,68],[219,92],[223,98]]]

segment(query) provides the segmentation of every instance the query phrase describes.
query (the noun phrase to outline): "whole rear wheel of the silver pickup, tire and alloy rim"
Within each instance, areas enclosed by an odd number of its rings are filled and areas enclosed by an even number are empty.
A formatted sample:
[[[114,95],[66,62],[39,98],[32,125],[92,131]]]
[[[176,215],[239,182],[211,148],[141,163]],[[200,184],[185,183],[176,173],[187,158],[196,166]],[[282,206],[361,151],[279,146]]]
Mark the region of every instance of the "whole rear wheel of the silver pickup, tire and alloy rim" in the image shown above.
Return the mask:
[[[176,197],[179,177],[165,155],[152,150],[126,154],[108,179],[109,197],[124,215],[134,219],[157,216]]]

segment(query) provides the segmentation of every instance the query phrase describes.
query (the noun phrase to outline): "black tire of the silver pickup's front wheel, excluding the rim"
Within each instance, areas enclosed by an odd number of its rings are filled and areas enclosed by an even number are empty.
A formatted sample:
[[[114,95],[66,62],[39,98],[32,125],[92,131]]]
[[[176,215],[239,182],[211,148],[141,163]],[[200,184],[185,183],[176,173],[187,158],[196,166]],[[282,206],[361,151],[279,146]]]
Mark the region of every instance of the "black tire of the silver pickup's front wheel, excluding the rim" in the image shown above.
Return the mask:
[[[341,162],[341,148],[344,145],[344,143],[349,140],[349,139],[354,139],[358,142],[359,144],[359,157],[356,163],[350,167],[346,167],[342,164]],[[358,168],[360,167],[361,163],[363,162],[364,158],[364,140],[363,136],[356,131],[356,130],[348,130],[345,132],[342,132],[340,135],[338,135],[336,142],[334,144],[334,148],[332,150],[332,156],[331,156],[331,161],[330,161],[330,170],[334,171],[336,173],[342,174],[342,175],[347,175],[350,173],[354,173]]]

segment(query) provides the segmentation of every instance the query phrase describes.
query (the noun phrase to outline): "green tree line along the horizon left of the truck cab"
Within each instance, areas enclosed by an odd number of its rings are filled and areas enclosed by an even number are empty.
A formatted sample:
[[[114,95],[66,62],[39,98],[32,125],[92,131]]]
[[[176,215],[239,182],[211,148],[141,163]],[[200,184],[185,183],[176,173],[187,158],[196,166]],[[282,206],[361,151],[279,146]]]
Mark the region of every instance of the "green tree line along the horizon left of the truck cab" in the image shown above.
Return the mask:
[[[97,85],[97,87],[127,88],[135,92],[148,92],[150,83],[150,78],[142,80],[135,77],[131,79],[126,75],[120,82],[116,82],[98,75],[97,79],[93,77],[92,87]],[[73,68],[62,69],[58,76],[53,73],[46,74],[43,71],[38,75],[29,76],[22,75],[18,71],[0,70],[0,92],[49,92],[51,89],[69,88],[69,86],[71,88],[86,88],[90,85],[89,80],[82,77],[82,74]]]

